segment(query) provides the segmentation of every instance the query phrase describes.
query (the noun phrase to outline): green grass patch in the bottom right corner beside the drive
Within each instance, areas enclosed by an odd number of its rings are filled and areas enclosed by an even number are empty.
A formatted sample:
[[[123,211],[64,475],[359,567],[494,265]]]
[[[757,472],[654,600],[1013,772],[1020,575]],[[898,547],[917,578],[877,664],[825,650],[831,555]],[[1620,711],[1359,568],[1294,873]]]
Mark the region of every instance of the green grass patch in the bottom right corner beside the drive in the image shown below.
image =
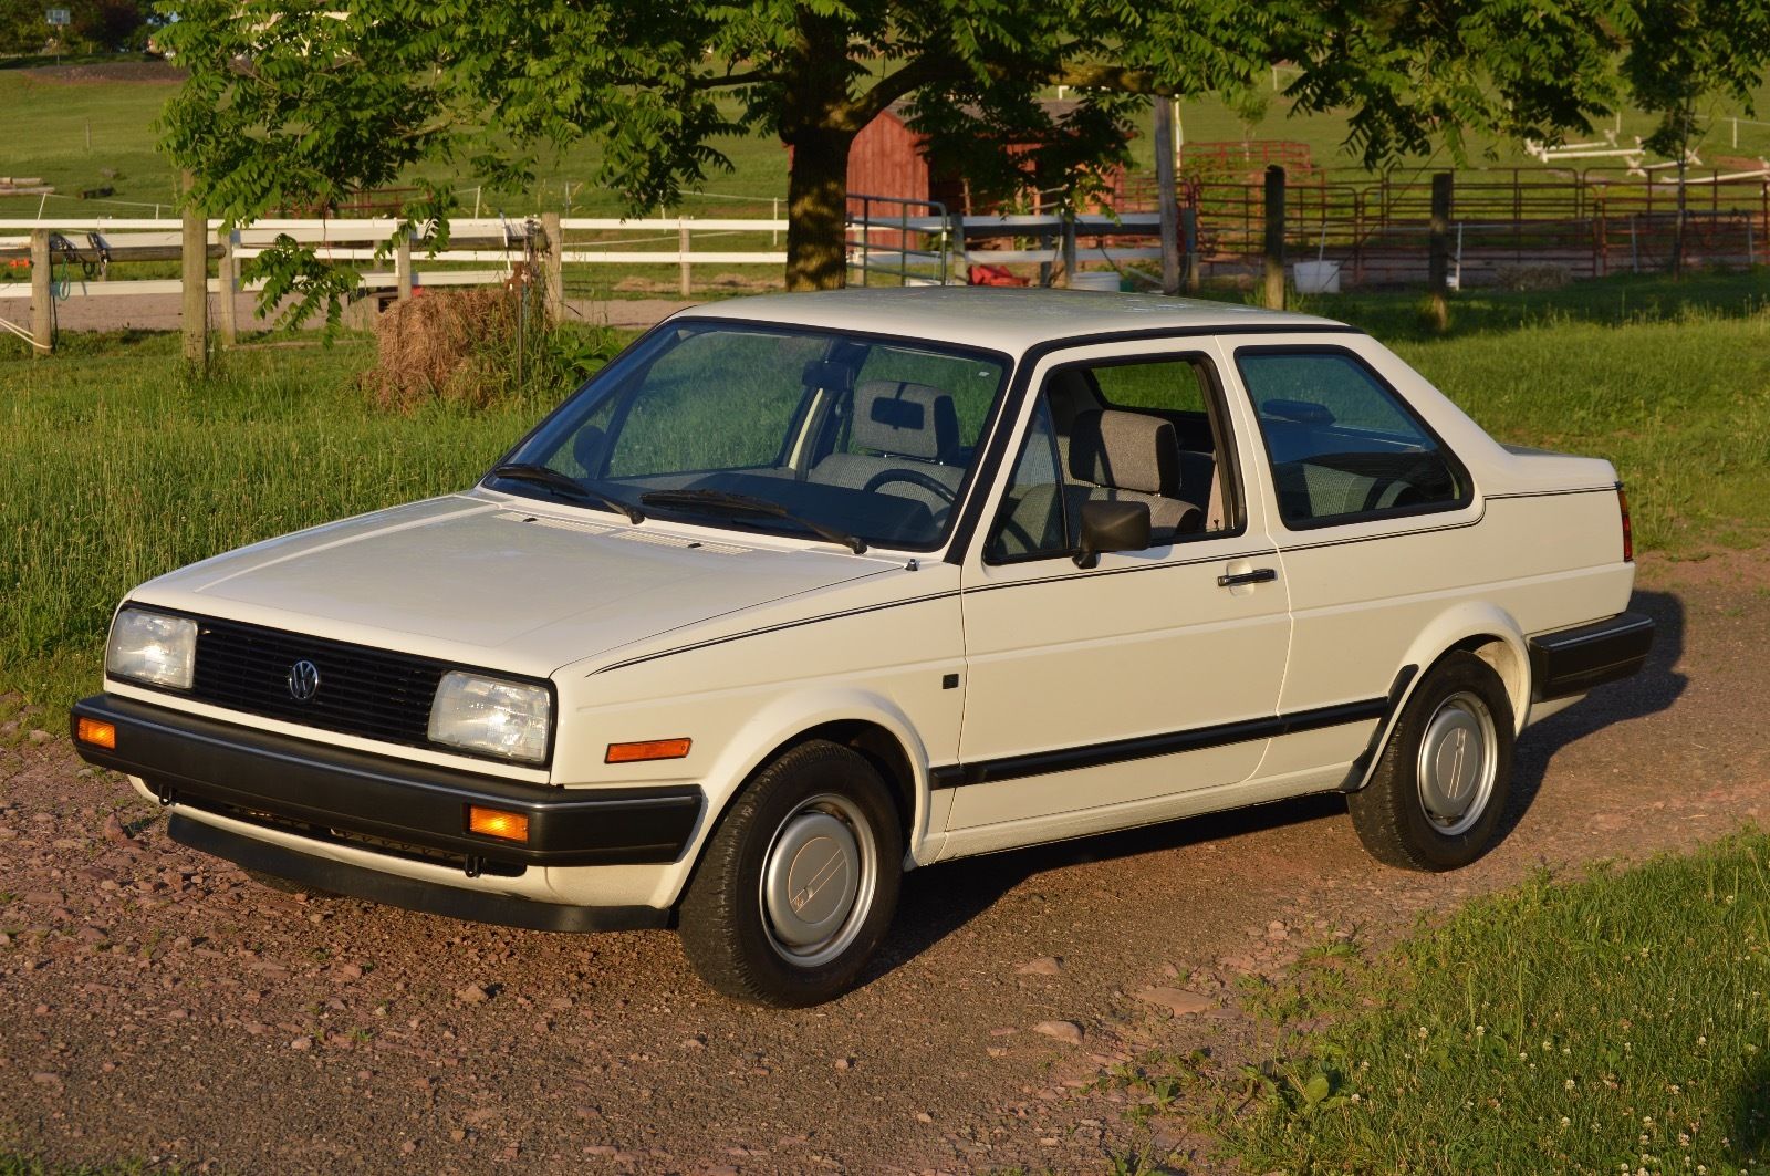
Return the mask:
[[[1770,836],[1469,903],[1372,965],[1317,958],[1274,1057],[1126,1068],[1220,1100],[1250,1172],[1745,1172],[1770,1164]],[[1147,1107],[1145,1103],[1140,1103]],[[1147,1114],[1147,1112],[1145,1112]]]

